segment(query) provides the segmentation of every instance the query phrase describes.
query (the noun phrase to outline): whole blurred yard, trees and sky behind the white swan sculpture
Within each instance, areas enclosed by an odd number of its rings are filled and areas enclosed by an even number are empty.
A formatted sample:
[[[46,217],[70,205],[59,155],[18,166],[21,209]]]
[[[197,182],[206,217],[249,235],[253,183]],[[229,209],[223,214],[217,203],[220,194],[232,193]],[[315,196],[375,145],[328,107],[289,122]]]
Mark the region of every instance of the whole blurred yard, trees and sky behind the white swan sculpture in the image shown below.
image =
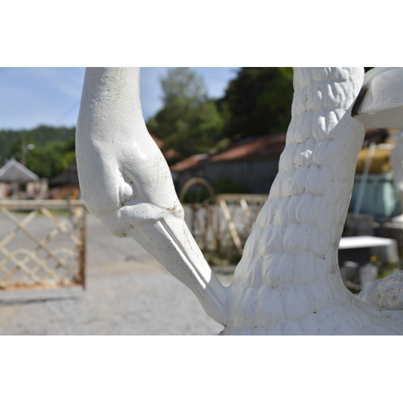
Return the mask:
[[[0,334],[217,334],[185,286],[86,211],[75,155],[84,74],[0,68]],[[142,68],[140,88],[186,222],[228,285],[278,171],[292,69]],[[354,293],[401,267],[400,139],[399,128],[366,131],[339,251]]]

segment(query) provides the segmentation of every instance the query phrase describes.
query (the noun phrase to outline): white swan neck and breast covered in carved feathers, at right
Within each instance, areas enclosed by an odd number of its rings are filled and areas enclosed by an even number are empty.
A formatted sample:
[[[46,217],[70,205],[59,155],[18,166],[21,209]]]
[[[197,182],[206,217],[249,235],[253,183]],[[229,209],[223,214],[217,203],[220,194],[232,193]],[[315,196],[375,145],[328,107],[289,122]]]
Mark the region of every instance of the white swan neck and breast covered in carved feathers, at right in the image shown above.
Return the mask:
[[[296,68],[279,173],[229,290],[224,334],[394,334],[343,285],[337,252],[365,127],[362,68]]]

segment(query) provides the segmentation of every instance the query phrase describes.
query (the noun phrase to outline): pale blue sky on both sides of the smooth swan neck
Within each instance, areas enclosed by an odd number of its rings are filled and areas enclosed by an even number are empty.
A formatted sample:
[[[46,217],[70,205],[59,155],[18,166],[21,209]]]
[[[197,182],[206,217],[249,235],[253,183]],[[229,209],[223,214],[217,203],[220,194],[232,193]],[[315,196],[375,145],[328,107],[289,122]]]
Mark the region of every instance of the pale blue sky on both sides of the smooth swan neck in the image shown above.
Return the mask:
[[[140,94],[147,120],[161,107],[159,77],[167,68],[142,68]],[[195,67],[210,97],[221,97],[239,68]],[[85,68],[0,68],[0,130],[31,129],[39,124],[75,126]]]

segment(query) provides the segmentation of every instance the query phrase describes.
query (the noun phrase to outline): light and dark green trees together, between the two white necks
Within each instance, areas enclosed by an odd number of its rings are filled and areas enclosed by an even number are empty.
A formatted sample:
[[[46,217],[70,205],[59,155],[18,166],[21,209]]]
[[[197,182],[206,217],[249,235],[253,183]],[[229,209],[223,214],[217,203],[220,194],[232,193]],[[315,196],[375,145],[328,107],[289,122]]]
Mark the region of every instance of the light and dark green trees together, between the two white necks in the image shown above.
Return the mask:
[[[203,79],[189,68],[170,69],[161,86],[164,106],[147,126],[181,158],[286,131],[291,120],[291,68],[242,68],[220,100],[208,99]]]

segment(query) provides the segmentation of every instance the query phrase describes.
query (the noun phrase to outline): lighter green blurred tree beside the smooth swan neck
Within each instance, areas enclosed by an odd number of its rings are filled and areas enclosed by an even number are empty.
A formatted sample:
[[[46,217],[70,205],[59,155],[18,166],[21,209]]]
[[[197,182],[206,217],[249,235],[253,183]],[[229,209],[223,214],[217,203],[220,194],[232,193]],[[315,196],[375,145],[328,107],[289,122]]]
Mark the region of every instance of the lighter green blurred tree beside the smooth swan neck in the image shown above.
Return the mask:
[[[147,122],[149,131],[181,158],[206,153],[222,138],[224,119],[208,99],[203,78],[185,67],[161,78],[163,108]]]

